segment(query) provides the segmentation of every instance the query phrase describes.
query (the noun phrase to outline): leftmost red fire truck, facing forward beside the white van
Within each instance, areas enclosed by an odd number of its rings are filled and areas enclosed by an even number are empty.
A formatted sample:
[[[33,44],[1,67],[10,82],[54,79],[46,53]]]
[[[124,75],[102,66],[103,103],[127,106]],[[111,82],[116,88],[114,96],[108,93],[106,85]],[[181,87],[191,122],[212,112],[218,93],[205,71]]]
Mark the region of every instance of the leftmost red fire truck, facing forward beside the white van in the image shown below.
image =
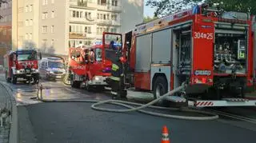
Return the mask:
[[[17,83],[18,78],[26,79],[26,82],[38,83],[38,56],[36,50],[10,51],[4,56],[6,81]]]

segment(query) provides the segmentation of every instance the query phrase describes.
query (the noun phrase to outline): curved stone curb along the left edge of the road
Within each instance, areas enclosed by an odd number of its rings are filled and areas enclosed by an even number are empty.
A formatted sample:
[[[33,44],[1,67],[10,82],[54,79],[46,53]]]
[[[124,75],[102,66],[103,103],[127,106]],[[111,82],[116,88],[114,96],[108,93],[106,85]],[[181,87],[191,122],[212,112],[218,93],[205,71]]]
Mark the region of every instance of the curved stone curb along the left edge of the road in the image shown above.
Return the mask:
[[[16,100],[13,96],[13,92],[10,90],[9,86],[2,83],[0,81],[0,84],[2,84],[7,92],[9,93],[9,96],[11,98],[11,103],[12,103],[12,112],[11,112],[11,121],[12,123],[10,124],[10,136],[9,136],[9,143],[18,143],[18,111],[17,111],[17,106],[16,106]]]

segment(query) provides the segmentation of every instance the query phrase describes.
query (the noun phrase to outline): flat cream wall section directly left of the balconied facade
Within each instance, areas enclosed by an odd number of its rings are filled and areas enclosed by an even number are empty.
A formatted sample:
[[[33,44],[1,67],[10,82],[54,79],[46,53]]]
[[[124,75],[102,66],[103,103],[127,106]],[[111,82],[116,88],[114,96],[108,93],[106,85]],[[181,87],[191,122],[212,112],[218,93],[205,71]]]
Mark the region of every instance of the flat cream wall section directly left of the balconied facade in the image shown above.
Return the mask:
[[[58,0],[40,0],[39,2],[38,42],[43,53],[67,54],[67,3],[67,1]]]

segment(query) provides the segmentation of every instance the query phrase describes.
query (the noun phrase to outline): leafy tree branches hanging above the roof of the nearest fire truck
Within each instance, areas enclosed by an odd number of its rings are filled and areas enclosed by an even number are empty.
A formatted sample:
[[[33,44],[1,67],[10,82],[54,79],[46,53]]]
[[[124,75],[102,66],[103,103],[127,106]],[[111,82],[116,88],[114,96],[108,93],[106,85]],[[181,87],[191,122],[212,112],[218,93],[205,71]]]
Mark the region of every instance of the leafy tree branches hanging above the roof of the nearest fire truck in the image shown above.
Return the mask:
[[[154,7],[155,17],[162,17],[166,14],[174,14],[181,10],[189,9],[197,4],[203,2],[213,4],[222,3],[220,6],[223,10],[239,11],[256,14],[256,1],[255,0],[148,0],[146,6]]]

